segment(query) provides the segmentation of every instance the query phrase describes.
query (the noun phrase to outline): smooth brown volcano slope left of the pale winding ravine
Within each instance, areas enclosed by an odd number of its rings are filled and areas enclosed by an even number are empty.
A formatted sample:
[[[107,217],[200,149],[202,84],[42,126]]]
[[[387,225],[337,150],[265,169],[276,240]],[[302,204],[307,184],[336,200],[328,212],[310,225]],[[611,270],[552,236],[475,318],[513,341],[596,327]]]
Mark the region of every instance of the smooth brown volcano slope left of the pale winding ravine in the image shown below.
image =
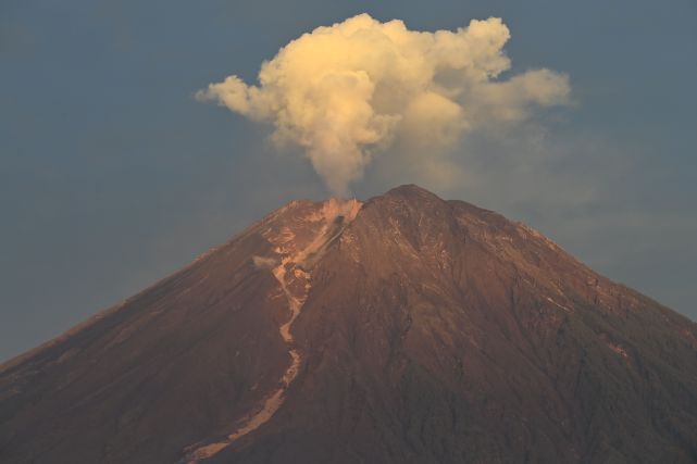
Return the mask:
[[[291,202],[187,268],[0,371],[0,461],[173,462],[276,388],[289,308],[259,256],[303,246],[322,204]],[[263,260],[262,260],[263,261]]]

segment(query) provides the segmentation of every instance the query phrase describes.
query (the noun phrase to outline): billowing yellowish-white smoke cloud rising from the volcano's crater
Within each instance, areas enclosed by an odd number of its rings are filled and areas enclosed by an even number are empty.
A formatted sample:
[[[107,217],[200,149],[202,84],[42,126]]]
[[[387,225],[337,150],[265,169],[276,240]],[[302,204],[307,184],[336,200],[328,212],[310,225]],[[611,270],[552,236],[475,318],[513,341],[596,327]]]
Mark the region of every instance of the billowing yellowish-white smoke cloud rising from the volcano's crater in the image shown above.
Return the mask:
[[[327,188],[345,195],[374,154],[401,147],[448,147],[497,122],[515,123],[536,108],[565,104],[565,75],[509,70],[500,18],[456,32],[409,30],[368,14],[319,27],[264,62],[257,86],[233,75],[197,92],[275,127],[279,145],[304,150]]]

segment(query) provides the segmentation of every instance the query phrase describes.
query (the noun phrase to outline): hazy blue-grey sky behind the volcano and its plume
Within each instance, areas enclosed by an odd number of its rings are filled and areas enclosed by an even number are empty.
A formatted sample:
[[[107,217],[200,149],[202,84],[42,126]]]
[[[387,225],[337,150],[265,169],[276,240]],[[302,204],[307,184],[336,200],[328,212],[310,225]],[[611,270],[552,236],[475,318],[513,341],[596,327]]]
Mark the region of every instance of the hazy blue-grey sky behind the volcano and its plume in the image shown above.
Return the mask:
[[[563,73],[573,104],[469,134],[433,154],[440,171],[386,152],[354,195],[416,183],[499,211],[697,319],[694,0],[242,3],[0,3],[0,360],[326,197],[267,126],[194,95],[254,84],[289,40],[362,12],[430,32],[501,17],[501,78]]]

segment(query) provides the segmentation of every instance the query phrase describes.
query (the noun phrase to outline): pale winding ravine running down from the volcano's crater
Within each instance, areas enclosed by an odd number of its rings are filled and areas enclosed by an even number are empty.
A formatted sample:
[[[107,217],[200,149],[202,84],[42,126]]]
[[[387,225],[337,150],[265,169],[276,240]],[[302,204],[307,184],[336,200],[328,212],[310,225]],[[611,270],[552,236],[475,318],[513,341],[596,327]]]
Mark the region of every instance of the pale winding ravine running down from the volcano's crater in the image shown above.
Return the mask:
[[[242,419],[234,432],[216,442],[197,443],[189,447],[181,462],[195,464],[213,456],[238,438],[261,427],[278,411],[284,402],[285,393],[298,376],[300,364],[302,363],[302,354],[295,346],[290,328],[300,315],[310,291],[311,272],[309,268],[312,267],[312,264],[316,262],[327,246],[340,236],[344,228],[356,217],[361,205],[357,200],[339,201],[332,199],[324,202],[318,213],[307,218],[310,224],[318,223],[318,230],[309,244],[301,249],[296,246],[295,234],[288,228],[284,228],[279,236],[266,237],[273,244],[276,244],[275,251],[282,256],[281,263],[273,267],[272,273],[278,280],[290,310],[288,321],[278,327],[281,337],[288,344],[290,365],[281,378],[278,388],[269,394],[254,412]],[[337,222],[339,216],[341,221]],[[296,288],[295,294],[290,290],[290,284],[294,280],[304,283],[301,286],[294,286]],[[298,287],[300,287],[299,290],[297,289]]]

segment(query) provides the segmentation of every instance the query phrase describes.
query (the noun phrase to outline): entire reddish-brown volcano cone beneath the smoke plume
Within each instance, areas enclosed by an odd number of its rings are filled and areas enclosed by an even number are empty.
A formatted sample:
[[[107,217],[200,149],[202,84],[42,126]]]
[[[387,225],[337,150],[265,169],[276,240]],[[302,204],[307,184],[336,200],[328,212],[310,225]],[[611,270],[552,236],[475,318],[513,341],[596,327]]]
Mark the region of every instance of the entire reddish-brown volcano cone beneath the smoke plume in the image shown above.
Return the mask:
[[[414,186],[291,202],[1,366],[0,462],[697,462],[697,325]]]

